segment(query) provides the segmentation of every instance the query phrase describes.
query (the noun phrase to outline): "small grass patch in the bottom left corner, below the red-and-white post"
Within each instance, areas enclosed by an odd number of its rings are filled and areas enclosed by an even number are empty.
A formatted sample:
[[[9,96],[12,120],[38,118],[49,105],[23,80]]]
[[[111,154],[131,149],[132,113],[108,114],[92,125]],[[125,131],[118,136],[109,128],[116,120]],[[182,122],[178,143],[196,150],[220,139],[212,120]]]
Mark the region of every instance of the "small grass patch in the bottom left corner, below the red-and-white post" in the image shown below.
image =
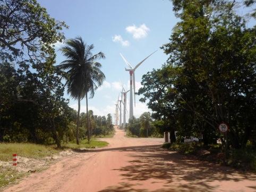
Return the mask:
[[[13,183],[16,179],[20,179],[27,173],[18,172],[12,168],[2,168],[0,167],[0,189],[8,184]]]

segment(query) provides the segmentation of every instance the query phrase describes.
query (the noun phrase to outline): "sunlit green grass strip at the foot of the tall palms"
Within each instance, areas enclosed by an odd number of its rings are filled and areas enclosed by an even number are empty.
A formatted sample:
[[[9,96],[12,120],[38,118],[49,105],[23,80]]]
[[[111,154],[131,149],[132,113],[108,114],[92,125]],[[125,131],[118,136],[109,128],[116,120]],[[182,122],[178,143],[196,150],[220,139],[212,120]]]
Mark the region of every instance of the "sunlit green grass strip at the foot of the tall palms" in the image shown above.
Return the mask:
[[[99,147],[105,147],[107,145],[108,145],[108,142],[98,141],[98,140],[91,140],[91,142],[88,144],[88,141],[84,139],[79,142],[79,145],[76,145],[75,141],[73,141],[73,142],[63,144],[63,147],[69,148],[69,149],[81,149],[81,148],[95,149]]]

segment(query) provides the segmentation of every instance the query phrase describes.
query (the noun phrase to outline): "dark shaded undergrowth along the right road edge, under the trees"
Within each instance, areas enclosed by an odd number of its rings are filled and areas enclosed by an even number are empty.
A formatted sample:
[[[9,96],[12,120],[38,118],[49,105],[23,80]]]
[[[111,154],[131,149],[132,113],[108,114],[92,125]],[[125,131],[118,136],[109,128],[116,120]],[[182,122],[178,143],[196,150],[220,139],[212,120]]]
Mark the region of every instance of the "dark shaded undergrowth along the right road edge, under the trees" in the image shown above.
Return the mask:
[[[256,172],[256,151],[250,143],[242,149],[227,150],[226,157],[220,144],[203,146],[199,143],[164,143],[162,147],[181,154],[193,155],[199,160]]]

